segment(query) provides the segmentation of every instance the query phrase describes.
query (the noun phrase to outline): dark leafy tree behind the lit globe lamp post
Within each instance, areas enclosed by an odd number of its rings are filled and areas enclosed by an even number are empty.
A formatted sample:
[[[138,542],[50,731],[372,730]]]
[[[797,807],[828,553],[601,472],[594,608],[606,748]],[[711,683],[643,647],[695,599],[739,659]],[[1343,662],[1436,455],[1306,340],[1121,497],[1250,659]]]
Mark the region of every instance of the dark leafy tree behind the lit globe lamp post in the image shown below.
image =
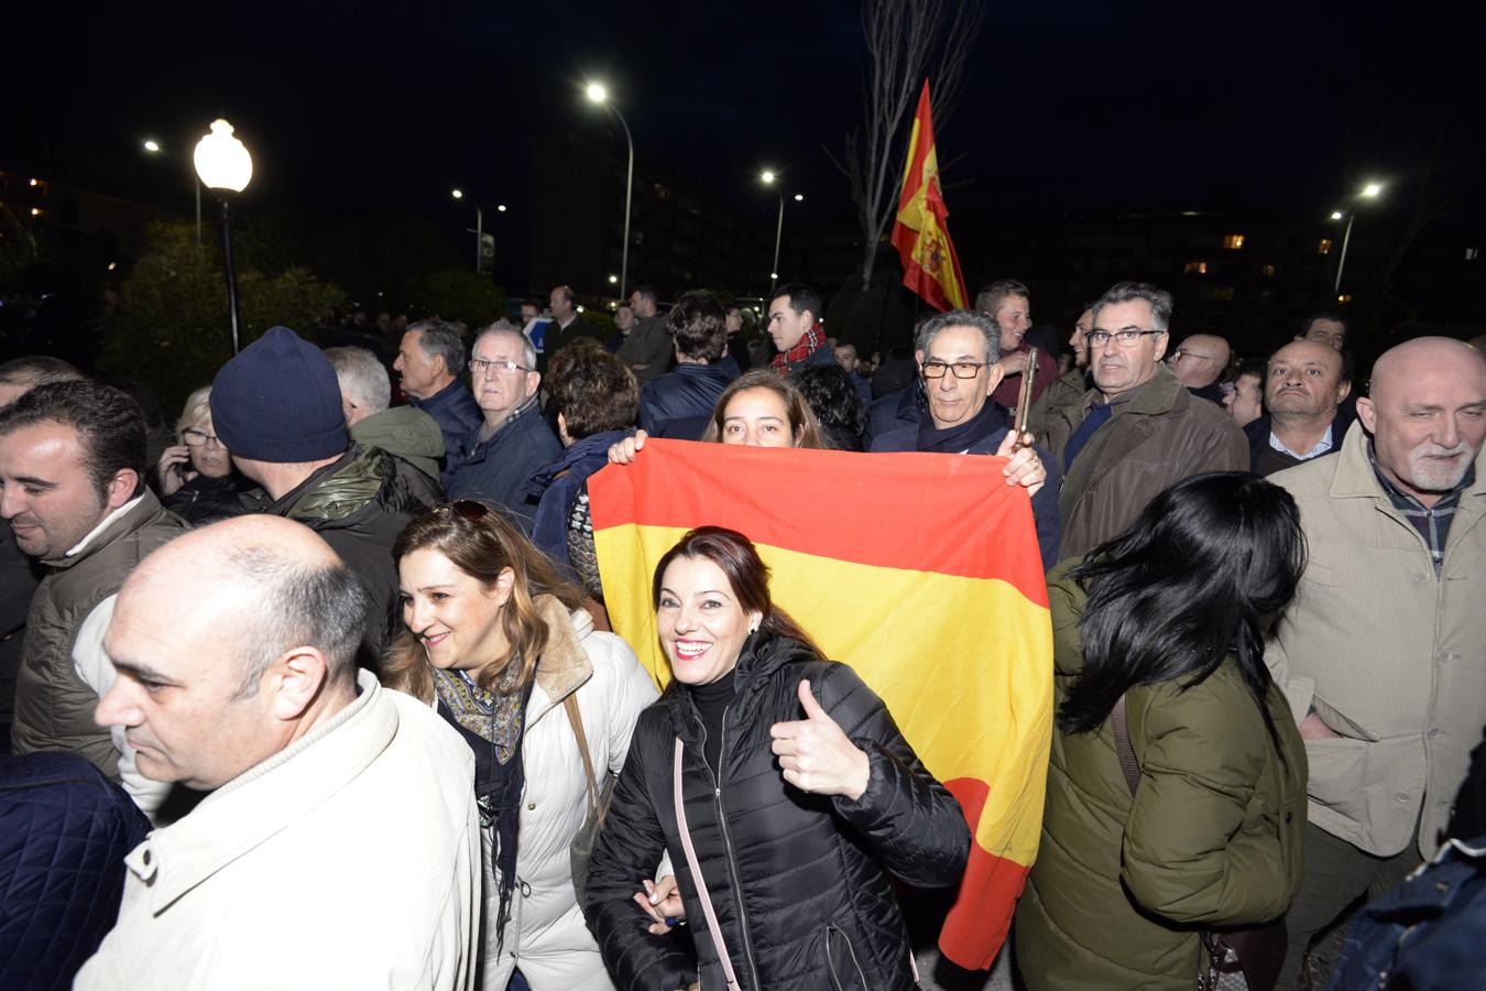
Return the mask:
[[[190,224],[152,224],[146,250],[119,290],[120,305],[106,319],[98,365],[144,382],[166,410],[177,409],[232,357],[220,254],[196,244]],[[308,269],[239,269],[239,343],[247,346],[278,324],[314,337],[343,305],[345,293]]]

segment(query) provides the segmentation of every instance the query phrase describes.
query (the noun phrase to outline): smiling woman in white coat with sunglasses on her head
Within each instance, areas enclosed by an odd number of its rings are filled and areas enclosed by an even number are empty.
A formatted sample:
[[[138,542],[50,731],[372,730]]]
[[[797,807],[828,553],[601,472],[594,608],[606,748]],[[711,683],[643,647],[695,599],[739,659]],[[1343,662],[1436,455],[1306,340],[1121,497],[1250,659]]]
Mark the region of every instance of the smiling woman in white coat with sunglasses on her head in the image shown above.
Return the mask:
[[[612,988],[583,924],[571,851],[654,682],[624,640],[594,631],[583,593],[480,502],[418,517],[392,554],[406,628],[383,682],[435,706],[476,756],[480,987],[504,991],[520,969],[533,991]]]

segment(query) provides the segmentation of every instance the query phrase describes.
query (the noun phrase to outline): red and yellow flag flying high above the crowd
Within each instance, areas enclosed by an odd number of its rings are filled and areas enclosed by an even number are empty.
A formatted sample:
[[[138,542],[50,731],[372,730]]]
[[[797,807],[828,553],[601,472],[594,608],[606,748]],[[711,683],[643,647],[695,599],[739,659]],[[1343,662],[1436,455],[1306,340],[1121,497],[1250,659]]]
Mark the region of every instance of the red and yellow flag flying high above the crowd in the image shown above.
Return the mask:
[[[945,221],[950,208],[939,190],[939,156],[933,144],[933,120],[929,117],[929,80],[918,95],[918,113],[908,138],[908,168],[903,171],[903,192],[898,198],[898,220],[893,223],[893,247],[903,260],[903,285],[918,293],[935,309],[964,309],[964,276],[960,256],[950,241]]]

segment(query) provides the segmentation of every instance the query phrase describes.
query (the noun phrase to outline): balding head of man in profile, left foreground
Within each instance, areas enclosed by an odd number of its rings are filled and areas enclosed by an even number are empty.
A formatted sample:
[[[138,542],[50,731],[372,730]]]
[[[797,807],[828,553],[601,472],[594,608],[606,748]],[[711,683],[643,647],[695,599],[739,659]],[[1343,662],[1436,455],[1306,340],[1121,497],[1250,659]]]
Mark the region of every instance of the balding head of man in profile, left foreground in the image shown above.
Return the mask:
[[[140,773],[212,789],[355,697],[370,599],[321,538],[250,516],[150,554],[119,593],[104,649],[119,678],[95,719]]]

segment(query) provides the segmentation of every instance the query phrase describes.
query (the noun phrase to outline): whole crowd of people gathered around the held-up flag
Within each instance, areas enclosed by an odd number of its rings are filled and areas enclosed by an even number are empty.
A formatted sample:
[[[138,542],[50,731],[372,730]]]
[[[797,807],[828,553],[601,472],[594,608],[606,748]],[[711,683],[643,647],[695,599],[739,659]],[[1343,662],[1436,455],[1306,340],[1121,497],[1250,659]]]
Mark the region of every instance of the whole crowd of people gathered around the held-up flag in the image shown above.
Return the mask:
[[[1363,382],[1340,313],[1241,361],[1119,282],[1064,348],[1002,281],[898,379],[822,309],[776,290],[764,355],[710,294],[603,339],[557,287],[400,328],[407,404],[275,327],[153,452],[126,391],[0,365],[0,987],[915,987],[964,810],[746,533],[654,569],[658,691],[588,492],[649,438],[1005,461],[1054,631],[1033,991],[1318,990],[1320,933],[1479,851],[1483,342]]]

